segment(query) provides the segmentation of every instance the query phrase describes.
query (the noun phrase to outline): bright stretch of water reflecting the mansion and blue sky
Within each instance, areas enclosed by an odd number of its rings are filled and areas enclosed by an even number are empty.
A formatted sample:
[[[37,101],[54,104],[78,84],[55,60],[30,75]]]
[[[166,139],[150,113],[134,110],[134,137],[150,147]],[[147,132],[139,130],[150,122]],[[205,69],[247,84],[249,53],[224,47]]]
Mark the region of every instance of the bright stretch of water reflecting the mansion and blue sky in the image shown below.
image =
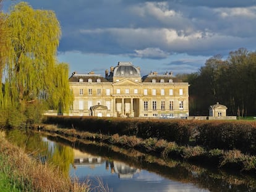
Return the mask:
[[[74,149],[74,164],[70,167],[70,176],[78,177],[80,182],[89,179],[92,186],[97,185],[95,177],[103,178],[103,182],[108,183],[113,191],[208,191],[197,188],[192,183],[175,182],[125,162],[95,156],[78,149]]]

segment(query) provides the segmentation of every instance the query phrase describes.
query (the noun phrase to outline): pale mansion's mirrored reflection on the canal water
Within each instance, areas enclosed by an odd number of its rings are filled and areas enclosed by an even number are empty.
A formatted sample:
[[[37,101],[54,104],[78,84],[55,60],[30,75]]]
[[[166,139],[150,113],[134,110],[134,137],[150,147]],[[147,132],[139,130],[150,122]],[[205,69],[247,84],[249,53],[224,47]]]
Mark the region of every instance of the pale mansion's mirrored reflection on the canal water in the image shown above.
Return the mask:
[[[105,163],[106,170],[110,170],[111,173],[116,173],[119,178],[132,178],[135,173],[139,173],[140,169],[130,167],[127,164],[119,161],[109,161],[100,156],[93,156],[87,152],[81,152],[77,149],[74,150],[74,169],[78,167],[89,167],[94,169]]]

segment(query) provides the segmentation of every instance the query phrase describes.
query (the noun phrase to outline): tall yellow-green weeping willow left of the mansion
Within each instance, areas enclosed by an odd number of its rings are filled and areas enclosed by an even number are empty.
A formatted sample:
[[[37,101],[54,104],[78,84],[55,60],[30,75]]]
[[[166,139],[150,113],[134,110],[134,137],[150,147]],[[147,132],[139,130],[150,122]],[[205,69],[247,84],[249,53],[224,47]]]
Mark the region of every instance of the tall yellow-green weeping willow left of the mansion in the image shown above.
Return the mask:
[[[47,101],[52,109],[68,110],[72,94],[68,66],[58,64],[61,27],[51,10],[34,10],[27,2],[11,7],[5,89],[2,105]]]

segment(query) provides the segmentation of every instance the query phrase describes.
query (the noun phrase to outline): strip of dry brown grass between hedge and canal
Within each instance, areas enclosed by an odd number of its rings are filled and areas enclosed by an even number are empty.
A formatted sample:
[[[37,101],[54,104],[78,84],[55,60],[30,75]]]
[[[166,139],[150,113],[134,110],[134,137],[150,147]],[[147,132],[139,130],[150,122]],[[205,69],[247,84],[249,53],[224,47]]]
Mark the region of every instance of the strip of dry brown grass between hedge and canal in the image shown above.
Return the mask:
[[[34,127],[38,128],[38,126]],[[222,149],[205,149],[201,146],[182,146],[175,142],[163,139],[142,139],[136,136],[105,135],[102,133],[89,133],[74,128],[59,128],[56,125],[40,125],[40,131],[56,133],[69,137],[72,141],[91,140],[107,144],[132,148],[138,151],[154,154],[163,159],[172,158],[194,164],[208,165],[216,169],[237,170],[239,172],[255,173],[256,157],[243,154],[237,149],[224,151]]]

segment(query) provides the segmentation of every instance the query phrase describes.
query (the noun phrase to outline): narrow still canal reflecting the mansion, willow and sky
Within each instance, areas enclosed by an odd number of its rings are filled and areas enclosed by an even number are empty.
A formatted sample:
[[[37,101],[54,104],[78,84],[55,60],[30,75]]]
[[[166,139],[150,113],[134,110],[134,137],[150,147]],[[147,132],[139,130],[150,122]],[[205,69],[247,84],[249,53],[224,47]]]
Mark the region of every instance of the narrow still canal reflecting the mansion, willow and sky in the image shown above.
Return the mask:
[[[6,131],[7,140],[42,163],[58,165],[69,177],[102,183],[109,191],[256,191],[254,175],[160,159],[134,149],[72,141],[32,131]]]

